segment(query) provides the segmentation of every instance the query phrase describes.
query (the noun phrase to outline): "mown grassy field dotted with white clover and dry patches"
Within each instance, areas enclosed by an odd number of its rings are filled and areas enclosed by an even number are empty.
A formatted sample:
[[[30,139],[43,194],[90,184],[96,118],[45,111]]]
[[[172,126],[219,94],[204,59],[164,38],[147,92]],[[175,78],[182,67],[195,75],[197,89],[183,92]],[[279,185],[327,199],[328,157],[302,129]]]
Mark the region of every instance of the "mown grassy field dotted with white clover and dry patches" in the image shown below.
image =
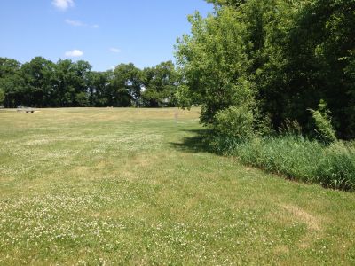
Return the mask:
[[[355,264],[354,193],[207,153],[198,116],[0,110],[0,264]]]

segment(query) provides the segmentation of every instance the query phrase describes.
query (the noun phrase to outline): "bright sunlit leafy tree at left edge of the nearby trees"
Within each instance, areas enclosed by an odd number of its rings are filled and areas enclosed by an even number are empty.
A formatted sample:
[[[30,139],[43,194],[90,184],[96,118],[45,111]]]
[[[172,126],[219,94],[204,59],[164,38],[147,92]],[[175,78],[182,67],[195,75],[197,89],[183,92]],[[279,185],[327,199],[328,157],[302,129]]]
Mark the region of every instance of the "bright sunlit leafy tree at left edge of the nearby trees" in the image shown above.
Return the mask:
[[[195,13],[189,17],[192,35],[177,43],[177,62],[184,77],[177,95],[187,105],[201,104],[204,124],[213,123],[216,114],[229,106],[253,108],[255,91],[248,75],[252,43],[246,42],[243,15],[230,7],[217,9],[206,19]]]

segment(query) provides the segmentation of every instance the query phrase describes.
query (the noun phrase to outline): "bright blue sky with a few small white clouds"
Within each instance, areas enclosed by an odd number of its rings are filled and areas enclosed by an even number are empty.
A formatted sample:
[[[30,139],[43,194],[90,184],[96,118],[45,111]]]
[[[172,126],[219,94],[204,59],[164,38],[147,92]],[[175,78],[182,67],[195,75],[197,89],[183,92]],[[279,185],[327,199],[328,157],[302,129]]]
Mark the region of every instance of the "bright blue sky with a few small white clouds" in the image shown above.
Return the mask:
[[[1,0],[0,57],[83,59],[94,70],[174,59],[188,14],[213,10],[203,0]]]

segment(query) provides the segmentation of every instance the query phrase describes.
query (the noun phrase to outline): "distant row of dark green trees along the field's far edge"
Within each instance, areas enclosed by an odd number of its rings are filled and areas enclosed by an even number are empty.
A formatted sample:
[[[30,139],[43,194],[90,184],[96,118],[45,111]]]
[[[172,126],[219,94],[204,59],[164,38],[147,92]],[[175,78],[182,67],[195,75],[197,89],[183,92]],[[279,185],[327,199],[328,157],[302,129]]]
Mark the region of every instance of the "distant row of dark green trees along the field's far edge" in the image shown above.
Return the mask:
[[[5,107],[175,106],[178,75],[171,61],[139,69],[121,64],[96,72],[89,62],[42,57],[20,64],[0,58],[0,105]]]

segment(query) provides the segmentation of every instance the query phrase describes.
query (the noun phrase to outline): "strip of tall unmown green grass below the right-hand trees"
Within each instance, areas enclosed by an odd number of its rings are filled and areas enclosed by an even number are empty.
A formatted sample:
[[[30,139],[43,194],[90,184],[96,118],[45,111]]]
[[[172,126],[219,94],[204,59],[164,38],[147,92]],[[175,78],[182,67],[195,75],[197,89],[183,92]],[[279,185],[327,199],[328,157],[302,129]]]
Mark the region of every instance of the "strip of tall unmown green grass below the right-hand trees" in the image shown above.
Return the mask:
[[[301,136],[255,137],[236,140],[217,137],[210,142],[218,153],[305,183],[355,190],[355,147],[344,142],[324,145]]]

